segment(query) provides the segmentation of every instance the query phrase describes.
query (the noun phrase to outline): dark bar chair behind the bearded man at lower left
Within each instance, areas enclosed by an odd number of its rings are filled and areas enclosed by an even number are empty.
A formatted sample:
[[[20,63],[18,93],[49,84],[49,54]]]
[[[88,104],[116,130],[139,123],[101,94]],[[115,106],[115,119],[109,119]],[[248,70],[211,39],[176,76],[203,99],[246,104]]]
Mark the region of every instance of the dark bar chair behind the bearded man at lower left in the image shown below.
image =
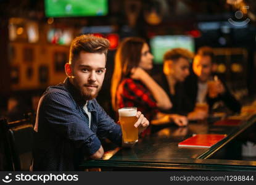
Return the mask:
[[[1,142],[4,148],[4,170],[29,171],[32,160],[33,123],[32,114],[22,120],[0,120]]]

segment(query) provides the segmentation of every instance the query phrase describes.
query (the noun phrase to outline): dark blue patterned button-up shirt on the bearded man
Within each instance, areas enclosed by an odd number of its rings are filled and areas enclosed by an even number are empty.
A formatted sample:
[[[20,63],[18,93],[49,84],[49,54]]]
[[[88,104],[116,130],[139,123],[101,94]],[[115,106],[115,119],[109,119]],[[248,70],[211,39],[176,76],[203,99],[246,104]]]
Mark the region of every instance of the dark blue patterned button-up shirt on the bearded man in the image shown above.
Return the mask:
[[[87,104],[88,112],[91,112],[89,128],[89,118],[83,110],[85,104],[68,79],[63,84],[47,88],[37,113],[33,170],[78,170],[83,158],[94,154],[101,146],[99,138],[122,144],[120,126],[105,113],[96,99]]]

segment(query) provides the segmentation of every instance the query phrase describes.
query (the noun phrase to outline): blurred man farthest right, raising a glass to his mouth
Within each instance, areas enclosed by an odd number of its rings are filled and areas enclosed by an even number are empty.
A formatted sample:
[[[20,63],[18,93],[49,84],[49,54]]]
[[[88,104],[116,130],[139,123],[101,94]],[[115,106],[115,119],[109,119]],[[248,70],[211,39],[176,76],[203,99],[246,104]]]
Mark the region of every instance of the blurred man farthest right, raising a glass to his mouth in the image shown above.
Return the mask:
[[[240,112],[241,104],[229,92],[223,80],[213,69],[214,54],[211,47],[200,47],[192,63],[192,73],[186,79],[186,92],[193,107],[207,103],[209,109],[218,101],[224,102],[233,112]]]

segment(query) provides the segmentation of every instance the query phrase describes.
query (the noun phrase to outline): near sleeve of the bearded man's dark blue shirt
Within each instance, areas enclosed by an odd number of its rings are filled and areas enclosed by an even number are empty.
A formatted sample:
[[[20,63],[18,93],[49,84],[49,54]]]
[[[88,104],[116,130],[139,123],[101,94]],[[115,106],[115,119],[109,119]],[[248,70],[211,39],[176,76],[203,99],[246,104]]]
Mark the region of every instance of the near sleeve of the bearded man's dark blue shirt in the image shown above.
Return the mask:
[[[47,93],[39,109],[39,120],[49,124],[49,128],[58,136],[74,142],[75,147],[83,147],[89,155],[99,150],[101,142],[96,133],[91,131],[86,120],[81,117],[76,104],[65,91]],[[39,123],[38,132],[40,124],[44,123]]]

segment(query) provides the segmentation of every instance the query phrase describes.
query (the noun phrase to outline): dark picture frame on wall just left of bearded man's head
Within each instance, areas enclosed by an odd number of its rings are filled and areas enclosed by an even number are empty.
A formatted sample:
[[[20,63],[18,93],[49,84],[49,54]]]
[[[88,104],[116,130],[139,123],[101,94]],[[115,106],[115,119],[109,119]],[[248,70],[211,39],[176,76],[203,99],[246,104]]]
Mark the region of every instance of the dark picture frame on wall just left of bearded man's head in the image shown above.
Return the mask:
[[[54,70],[56,73],[65,72],[65,64],[68,62],[68,53],[65,51],[56,51],[53,55]]]

